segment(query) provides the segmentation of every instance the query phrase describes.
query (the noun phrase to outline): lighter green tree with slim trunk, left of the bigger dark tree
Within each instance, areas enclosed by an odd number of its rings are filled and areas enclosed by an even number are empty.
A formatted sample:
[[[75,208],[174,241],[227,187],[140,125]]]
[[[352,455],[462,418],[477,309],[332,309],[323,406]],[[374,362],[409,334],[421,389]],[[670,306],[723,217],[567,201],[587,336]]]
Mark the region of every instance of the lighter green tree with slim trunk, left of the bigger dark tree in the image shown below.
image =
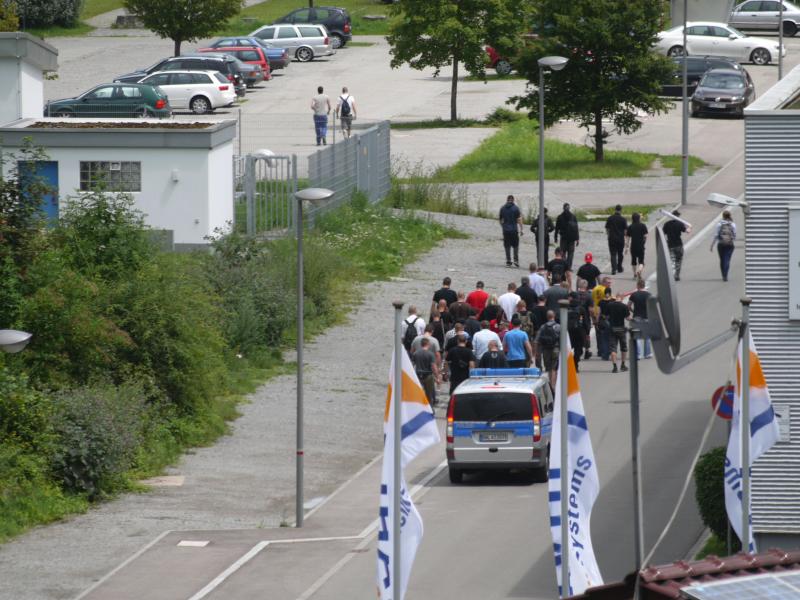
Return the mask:
[[[393,5],[397,17],[387,39],[392,68],[452,66],[450,120],[458,118],[456,98],[459,66],[485,79],[489,43],[510,55],[521,43],[528,3],[517,0],[403,0]]]

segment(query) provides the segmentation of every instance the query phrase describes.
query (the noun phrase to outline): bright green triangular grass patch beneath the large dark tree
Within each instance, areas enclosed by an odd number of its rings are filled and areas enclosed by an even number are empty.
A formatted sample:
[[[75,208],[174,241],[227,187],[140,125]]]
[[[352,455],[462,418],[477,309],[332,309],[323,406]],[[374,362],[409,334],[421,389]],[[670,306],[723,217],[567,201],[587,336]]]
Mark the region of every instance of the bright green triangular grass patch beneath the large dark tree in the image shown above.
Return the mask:
[[[577,144],[545,140],[545,177],[547,179],[609,179],[638,177],[660,158],[675,174],[680,174],[680,158],[647,152],[606,150],[605,160],[597,163],[592,152]],[[677,159],[677,160],[676,160]],[[438,169],[432,175],[437,182],[475,183],[485,181],[528,181],[536,178],[539,164],[538,132],[535,121],[517,121],[505,125],[484,140],[455,165]],[[696,157],[689,160],[689,173],[705,163]]]

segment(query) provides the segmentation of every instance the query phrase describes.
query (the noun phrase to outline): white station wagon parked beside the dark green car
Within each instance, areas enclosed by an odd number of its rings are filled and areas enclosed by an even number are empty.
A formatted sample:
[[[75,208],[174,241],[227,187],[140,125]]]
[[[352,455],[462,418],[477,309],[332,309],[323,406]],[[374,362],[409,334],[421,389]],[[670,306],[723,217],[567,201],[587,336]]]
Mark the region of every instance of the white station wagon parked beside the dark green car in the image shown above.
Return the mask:
[[[173,110],[188,109],[196,115],[236,102],[233,84],[219,71],[161,71],[139,83],[161,88]]]

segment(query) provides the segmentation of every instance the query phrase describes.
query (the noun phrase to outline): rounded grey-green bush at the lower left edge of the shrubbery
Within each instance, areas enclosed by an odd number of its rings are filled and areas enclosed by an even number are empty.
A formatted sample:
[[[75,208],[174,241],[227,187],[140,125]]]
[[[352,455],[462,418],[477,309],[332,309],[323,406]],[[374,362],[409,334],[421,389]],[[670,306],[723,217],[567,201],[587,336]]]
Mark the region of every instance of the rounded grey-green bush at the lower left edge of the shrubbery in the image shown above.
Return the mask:
[[[64,489],[96,498],[120,487],[143,438],[143,386],[96,384],[59,392],[54,403],[53,469]]]

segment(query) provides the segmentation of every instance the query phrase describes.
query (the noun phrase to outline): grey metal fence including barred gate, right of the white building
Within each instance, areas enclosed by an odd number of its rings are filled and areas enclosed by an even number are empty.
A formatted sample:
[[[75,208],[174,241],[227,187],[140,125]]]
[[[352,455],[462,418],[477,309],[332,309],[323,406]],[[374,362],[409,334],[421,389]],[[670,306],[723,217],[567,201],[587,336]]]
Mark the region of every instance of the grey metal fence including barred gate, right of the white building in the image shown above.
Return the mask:
[[[255,150],[235,157],[236,229],[266,237],[290,234],[295,223],[294,193],[301,187],[334,192],[324,205],[304,211],[312,227],[318,215],[349,201],[356,191],[372,203],[380,202],[391,185],[389,134],[388,122],[354,127],[352,137],[322,146],[307,157],[307,182],[299,177],[302,163],[296,154]]]

